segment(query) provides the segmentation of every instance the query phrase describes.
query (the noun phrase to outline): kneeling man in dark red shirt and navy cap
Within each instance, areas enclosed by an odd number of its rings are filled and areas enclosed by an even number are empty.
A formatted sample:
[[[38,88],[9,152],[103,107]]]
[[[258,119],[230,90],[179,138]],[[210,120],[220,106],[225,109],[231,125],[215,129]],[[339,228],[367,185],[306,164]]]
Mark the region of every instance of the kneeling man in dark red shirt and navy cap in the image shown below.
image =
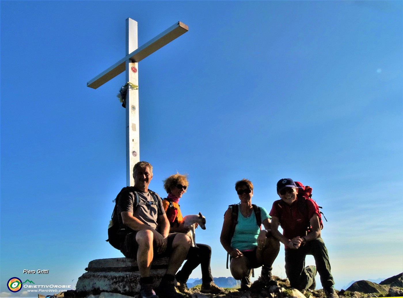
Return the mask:
[[[285,272],[291,287],[300,291],[314,289],[318,271],[326,297],[339,298],[333,288],[328,252],[320,238],[318,206],[310,198],[297,198],[298,188],[290,178],[277,182],[277,194],[280,200],[273,203],[269,213],[272,217],[271,229],[272,235],[285,246]],[[304,210],[300,210],[301,202],[298,204],[298,200],[306,201]],[[278,231],[279,224],[283,235]],[[307,227],[310,227],[309,233]],[[304,268],[307,254],[314,256],[316,267]]]

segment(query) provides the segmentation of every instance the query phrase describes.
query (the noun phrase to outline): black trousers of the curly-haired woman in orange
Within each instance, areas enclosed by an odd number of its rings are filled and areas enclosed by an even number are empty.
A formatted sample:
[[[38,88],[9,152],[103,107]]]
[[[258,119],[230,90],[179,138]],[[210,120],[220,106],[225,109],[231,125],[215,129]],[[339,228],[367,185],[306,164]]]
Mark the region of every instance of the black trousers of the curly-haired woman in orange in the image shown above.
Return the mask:
[[[185,282],[189,279],[189,275],[193,269],[200,265],[202,269],[202,282],[210,283],[213,281],[210,268],[211,247],[207,244],[196,244],[197,247],[190,247],[186,256],[186,262],[176,274],[177,281]]]

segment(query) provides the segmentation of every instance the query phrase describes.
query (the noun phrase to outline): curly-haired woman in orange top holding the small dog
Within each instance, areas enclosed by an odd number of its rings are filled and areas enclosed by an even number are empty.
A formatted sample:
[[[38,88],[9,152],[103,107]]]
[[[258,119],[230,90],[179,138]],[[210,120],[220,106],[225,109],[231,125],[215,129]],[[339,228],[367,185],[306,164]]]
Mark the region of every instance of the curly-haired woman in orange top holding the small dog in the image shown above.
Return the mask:
[[[170,175],[164,180],[164,189],[168,196],[162,200],[166,216],[170,222],[170,233],[187,233],[189,228],[179,227],[183,220],[181,208],[179,206],[179,199],[186,192],[189,181],[187,175],[174,174]],[[200,292],[219,294],[224,289],[218,287],[213,282],[211,275],[210,260],[211,260],[211,247],[207,244],[197,243],[197,247],[191,247],[186,256],[186,262],[183,264],[181,270],[175,275],[179,285],[178,290],[185,294],[191,294],[187,288],[186,281],[193,269],[200,265],[202,269],[202,288]]]

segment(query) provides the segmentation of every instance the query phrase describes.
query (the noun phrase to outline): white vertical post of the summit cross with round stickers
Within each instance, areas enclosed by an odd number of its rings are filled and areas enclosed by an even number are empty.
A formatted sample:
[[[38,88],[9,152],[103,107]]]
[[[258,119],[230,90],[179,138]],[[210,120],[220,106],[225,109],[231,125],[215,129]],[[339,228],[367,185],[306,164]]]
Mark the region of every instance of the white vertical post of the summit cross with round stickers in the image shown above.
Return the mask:
[[[137,22],[126,19],[126,55],[137,50]],[[139,85],[138,63],[126,60],[126,82]],[[133,167],[140,161],[139,90],[130,87],[126,94],[126,185],[134,185]]]

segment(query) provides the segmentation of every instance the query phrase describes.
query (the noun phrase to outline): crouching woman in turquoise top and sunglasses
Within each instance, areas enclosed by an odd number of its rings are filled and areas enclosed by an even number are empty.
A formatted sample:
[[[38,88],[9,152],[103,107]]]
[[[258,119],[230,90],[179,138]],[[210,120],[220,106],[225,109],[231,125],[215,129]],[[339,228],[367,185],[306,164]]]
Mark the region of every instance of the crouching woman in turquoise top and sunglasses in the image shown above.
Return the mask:
[[[240,291],[251,287],[251,270],[260,266],[259,283],[263,286],[276,284],[272,278],[272,264],[280,250],[280,243],[271,236],[270,215],[265,208],[252,204],[251,181],[237,181],[235,190],[241,202],[230,205],[226,210],[220,236],[220,242],[231,258],[231,274],[241,280]],[[261,223],[264,230],[260,230]]]

